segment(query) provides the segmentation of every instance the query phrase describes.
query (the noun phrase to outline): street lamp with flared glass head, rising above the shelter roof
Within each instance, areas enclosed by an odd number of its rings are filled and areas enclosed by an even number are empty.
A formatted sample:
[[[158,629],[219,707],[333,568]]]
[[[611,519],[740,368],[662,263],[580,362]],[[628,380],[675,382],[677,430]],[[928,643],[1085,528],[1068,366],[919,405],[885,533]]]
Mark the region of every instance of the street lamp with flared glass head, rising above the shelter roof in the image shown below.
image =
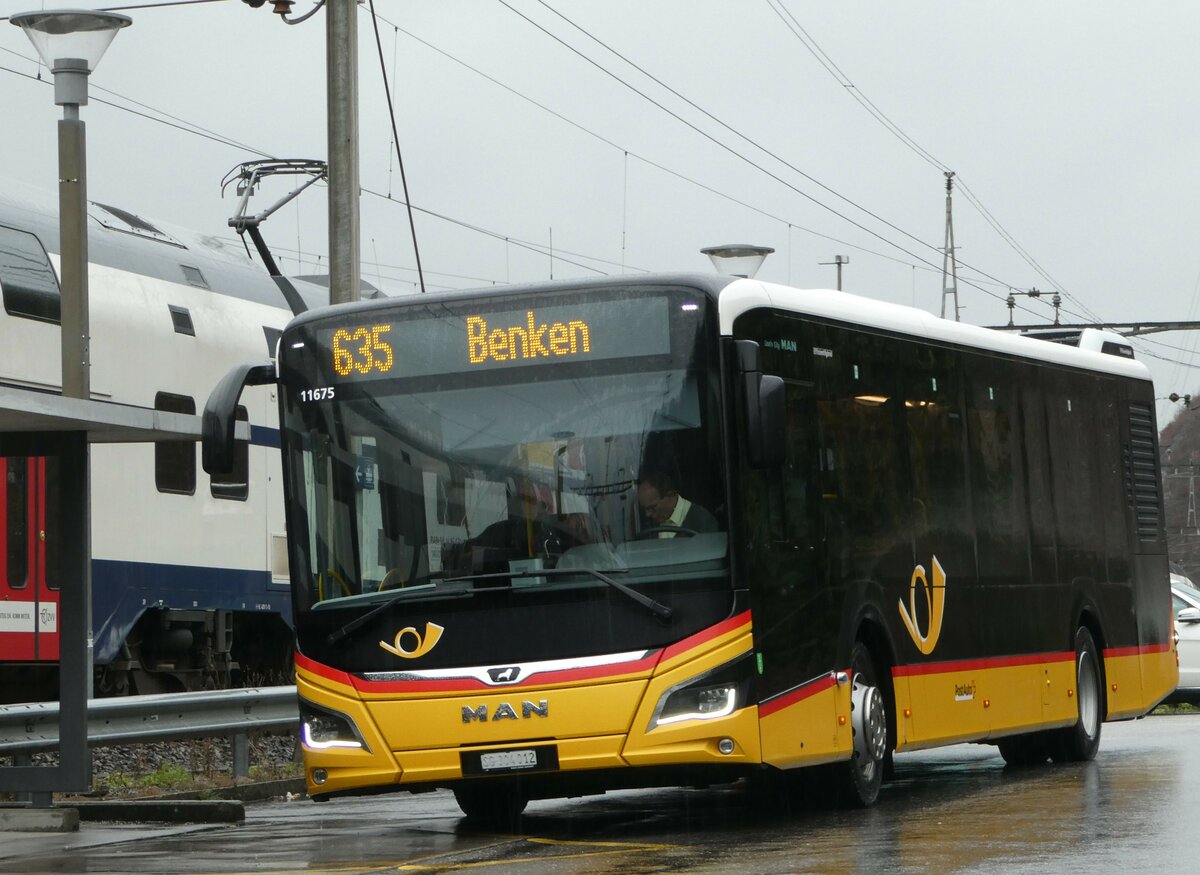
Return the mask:
[[[54,73],[59,120],[59,272],[62,288],[62,395],[91,395],[88,325],[88,161],[79,107],[88,104],[88,76],[128,16],[89,10],[23,12],[8,18],[25,31]]]

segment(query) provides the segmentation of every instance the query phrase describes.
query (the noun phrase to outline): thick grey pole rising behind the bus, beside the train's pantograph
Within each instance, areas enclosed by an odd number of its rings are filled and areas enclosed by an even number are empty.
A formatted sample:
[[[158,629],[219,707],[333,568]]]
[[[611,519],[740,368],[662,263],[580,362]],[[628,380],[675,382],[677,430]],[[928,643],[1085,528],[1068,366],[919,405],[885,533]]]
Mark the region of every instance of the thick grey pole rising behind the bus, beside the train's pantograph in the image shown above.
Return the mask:
[[[329,126],[329,302],[359,300],[358,4],[325,4]]]

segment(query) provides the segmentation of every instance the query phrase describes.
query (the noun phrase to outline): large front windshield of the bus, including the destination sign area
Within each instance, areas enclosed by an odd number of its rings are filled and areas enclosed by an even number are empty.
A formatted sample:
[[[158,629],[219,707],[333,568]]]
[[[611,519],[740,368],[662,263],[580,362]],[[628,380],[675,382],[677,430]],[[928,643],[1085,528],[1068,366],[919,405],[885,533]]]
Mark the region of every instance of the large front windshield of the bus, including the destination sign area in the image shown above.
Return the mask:
[[[288,525],[304,545],[293,549],[293,562],[304,559],[293,568],[298,615],[484,588],[536,600],[616,586],[659,606],[680,581],[727,589],[706,306],[695,293],[625,290],[570,313],[557,301],[502,300],[432,314],[392,305],[365,325],[305,324],[290,341],[305,355],[281,370]],[[500,341],[521,353],[511,325],[545,326],[569,350],[572,322],[587,330],[575,338],[587,358],[472,361],[496,358]],[[431,346],[406,365],[402,350],[418,338]],[[446,359],[456,346],[464,364]],[[364,373],[367,352],[373,370]],[[311,367],[323,359],[331,374]]]

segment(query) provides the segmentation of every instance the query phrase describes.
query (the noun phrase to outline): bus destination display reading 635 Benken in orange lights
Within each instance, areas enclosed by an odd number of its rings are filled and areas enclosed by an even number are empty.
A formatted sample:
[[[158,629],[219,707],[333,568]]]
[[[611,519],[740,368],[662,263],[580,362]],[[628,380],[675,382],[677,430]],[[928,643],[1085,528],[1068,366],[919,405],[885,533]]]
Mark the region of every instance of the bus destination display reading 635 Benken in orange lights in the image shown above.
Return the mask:
[[[383,314],[380,314],[382,317]],[[335,378],[421,377],[671,352],[667,299],[379,318],[325,329]]]

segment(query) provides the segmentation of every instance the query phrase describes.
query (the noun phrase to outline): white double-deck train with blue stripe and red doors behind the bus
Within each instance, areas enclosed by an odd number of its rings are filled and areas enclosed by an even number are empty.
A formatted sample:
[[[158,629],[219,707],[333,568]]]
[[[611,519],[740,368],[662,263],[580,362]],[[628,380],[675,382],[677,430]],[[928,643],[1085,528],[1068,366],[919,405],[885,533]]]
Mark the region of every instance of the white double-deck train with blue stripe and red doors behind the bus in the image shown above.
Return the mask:
[[[53,197],[0,191],[0,384],[61,386]],[[199,413],[230,364],[268,360],[292,313],[227,234],[89,205],[91,392]],[[294,283],[308,306],[317,283]],[[191,443],[95,445],[91,455],[96,693],[271,683],[292,630],[274,389],[242,404],[251,444],[210,479]],[[0,701],[56,678],[56,508],[46,460],[0,459]]]

